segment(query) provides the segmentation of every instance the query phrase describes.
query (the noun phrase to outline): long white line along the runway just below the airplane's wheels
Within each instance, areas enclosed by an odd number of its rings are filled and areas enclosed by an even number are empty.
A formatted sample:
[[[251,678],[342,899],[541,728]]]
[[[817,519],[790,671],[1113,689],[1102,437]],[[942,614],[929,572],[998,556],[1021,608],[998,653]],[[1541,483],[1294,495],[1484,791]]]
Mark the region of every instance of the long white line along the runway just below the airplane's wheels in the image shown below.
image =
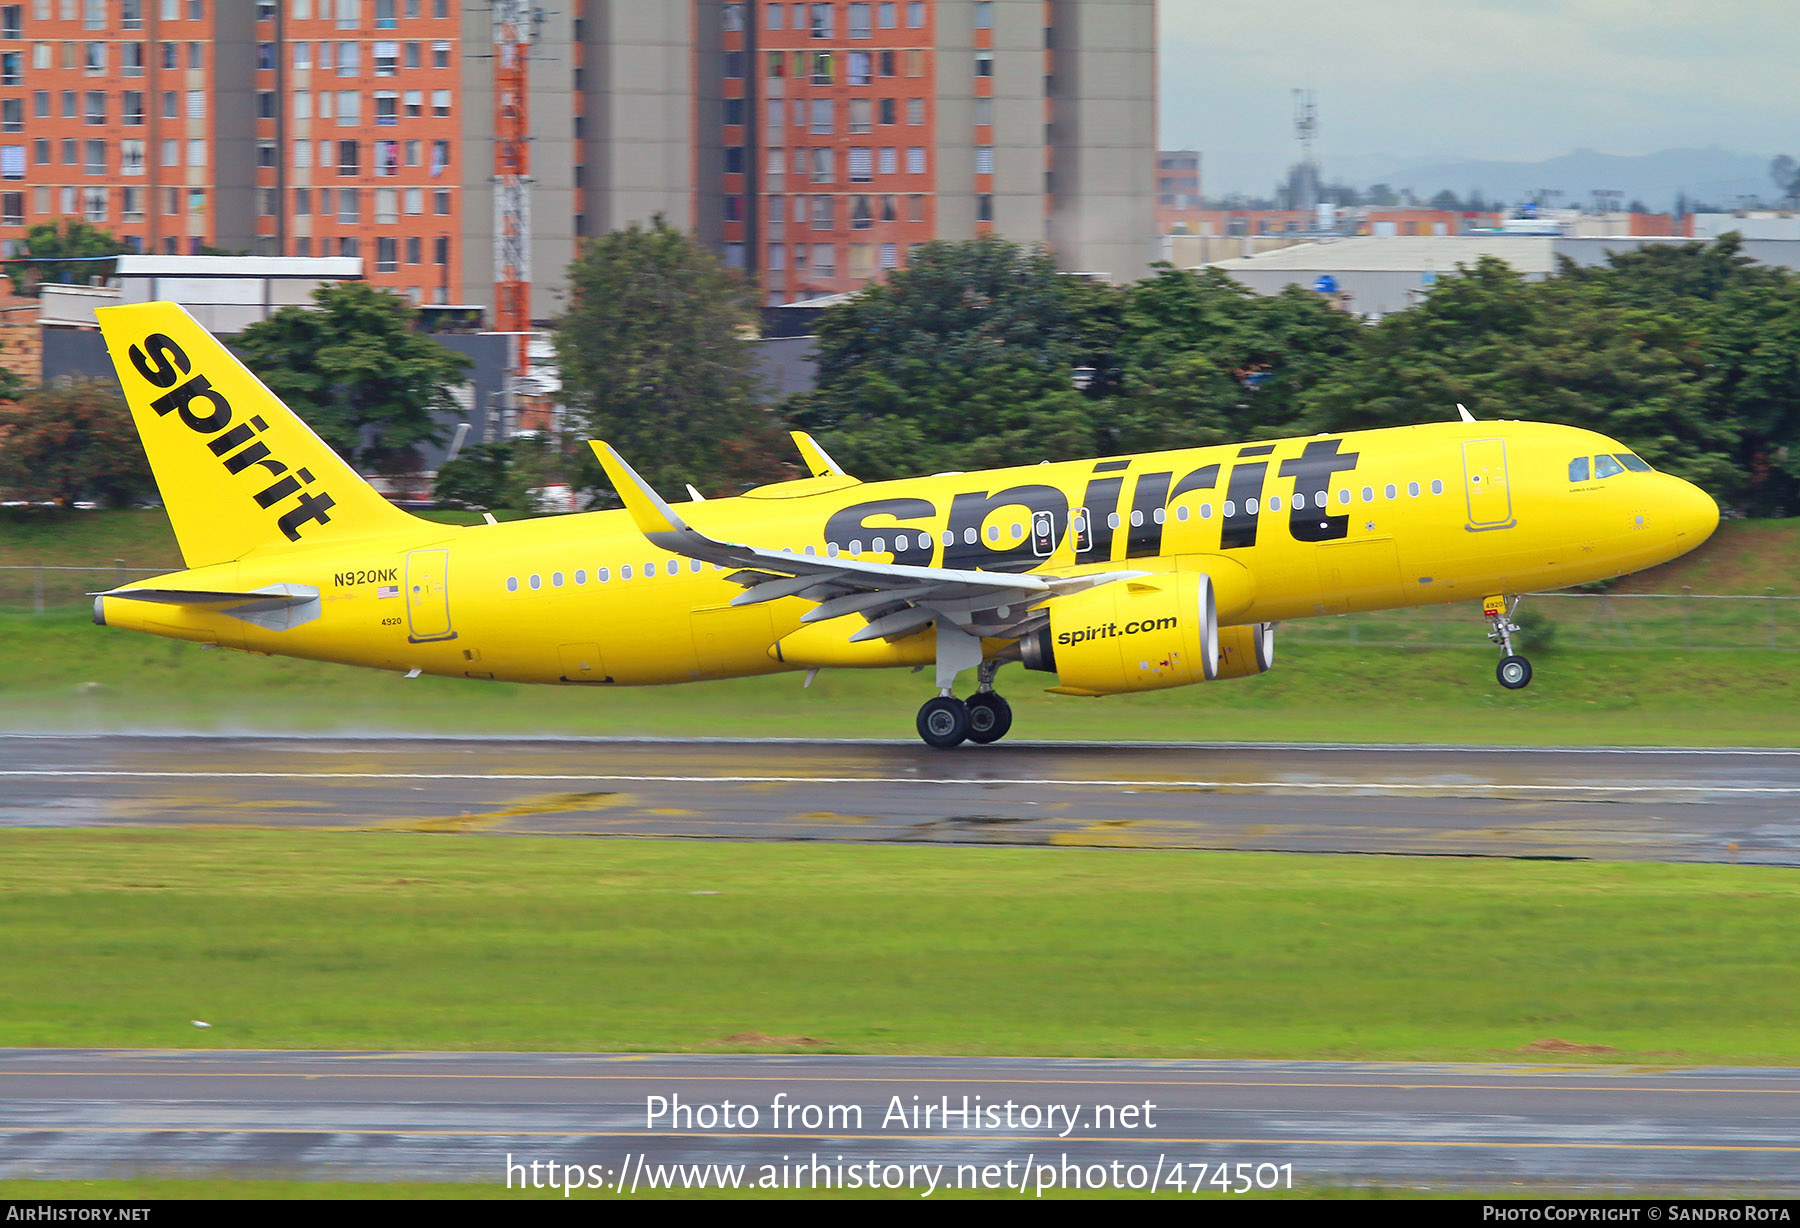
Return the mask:
[[[1262,789],[1301,792],[1575,792],[1575,794],[1769,794],[1800,796],[1800,785],[1508,785],[1411,781],[1296,781],[1296,780],[1048,780],[1012,776],[628,776],[603,772],[149,772],[121,769],[0,769],[0,778],[68,780],[450,780],[450,781],[603,781],[634,785],[1024,785],[1055,789]]]

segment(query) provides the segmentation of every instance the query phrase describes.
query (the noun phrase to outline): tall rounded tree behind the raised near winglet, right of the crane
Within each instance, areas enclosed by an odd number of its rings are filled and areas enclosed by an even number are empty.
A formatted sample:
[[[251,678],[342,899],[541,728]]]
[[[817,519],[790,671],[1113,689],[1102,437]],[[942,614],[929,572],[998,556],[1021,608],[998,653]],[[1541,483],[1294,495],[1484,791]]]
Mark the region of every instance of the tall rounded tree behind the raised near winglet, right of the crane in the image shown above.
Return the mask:
[[[761,407],[751,286],[657,216],[581,247],[556,321],[563,402],[653,484],[785,475]],[[610,483],[580,456],[587,488]]]

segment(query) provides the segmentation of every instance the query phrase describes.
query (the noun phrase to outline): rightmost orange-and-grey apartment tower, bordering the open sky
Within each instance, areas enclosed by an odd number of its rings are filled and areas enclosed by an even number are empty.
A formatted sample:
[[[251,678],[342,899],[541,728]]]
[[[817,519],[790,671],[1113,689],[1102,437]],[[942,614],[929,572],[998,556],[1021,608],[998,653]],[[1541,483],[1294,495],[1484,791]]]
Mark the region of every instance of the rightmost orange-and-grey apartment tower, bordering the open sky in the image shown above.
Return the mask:
[[[1154,254],[1154,0],[720,5],[698,229],[770,304],[853,290],[932,238]],[[702,63],[711,54],[702,38]]]

